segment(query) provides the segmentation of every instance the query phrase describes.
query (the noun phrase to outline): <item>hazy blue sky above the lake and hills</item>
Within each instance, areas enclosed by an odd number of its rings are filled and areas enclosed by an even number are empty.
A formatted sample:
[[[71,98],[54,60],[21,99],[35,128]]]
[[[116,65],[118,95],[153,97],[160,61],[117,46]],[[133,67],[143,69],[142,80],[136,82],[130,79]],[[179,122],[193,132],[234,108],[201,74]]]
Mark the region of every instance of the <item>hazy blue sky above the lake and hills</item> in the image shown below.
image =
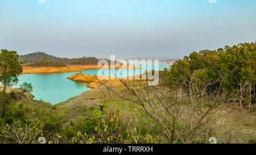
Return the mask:
[[[256,41],[255,8],[255,0],[0,0],[0,48],[182,57]]]

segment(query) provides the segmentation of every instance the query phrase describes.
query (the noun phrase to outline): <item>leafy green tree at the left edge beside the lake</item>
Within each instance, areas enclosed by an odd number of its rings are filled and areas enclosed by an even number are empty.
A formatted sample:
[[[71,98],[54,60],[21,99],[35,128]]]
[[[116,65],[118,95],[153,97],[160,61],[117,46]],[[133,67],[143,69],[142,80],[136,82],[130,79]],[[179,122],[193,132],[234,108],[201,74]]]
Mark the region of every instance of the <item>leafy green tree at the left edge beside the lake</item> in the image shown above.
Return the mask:
[[[11,87],[18,82],[18,76],[22,73],[22,65],[18,58],[16,51],[1,49],[0,81],[3,85],[3,93],[6,93],[7,87]]]

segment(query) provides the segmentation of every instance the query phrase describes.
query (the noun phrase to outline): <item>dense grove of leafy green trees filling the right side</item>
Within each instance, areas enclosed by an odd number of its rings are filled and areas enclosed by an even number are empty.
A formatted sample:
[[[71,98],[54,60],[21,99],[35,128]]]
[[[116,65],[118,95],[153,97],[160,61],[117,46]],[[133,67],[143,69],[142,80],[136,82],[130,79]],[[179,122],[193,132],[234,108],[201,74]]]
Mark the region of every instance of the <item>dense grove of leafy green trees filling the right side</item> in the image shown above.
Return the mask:
[[[175,89],[188,89],[190,78],[197,83],[212,83],[207,93],[221,87],[221,93],[231,100],[239,100],[241,106],[253,108],[255,104],[256,42],[225,46],[217,51],[208,49],[192,52],[184,60],[176,61],[170,72],[164,73],[164,83]],[[200,90],[200,85],[197,89]],[[181,93],[181,91],[180,91]]]

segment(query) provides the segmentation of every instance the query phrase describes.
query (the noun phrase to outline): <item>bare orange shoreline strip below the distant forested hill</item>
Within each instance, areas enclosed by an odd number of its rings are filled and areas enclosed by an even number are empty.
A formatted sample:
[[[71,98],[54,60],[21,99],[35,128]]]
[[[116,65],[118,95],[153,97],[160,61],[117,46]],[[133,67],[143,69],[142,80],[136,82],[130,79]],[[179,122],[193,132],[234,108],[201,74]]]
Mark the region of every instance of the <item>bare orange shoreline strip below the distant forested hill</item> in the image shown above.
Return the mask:
[[[127,65],[127,68],[136,68],[135,66]],[[88,69],[101,69],[98,65],[67,65],[64,67],[31,67],[23,66],[22,74],[50,74],[50,73],[70,73],[70,72],[80,72]],[[108,67],[109,68],[109,67]],[[115,68],[121,68],[120,66],[115,66]]]

